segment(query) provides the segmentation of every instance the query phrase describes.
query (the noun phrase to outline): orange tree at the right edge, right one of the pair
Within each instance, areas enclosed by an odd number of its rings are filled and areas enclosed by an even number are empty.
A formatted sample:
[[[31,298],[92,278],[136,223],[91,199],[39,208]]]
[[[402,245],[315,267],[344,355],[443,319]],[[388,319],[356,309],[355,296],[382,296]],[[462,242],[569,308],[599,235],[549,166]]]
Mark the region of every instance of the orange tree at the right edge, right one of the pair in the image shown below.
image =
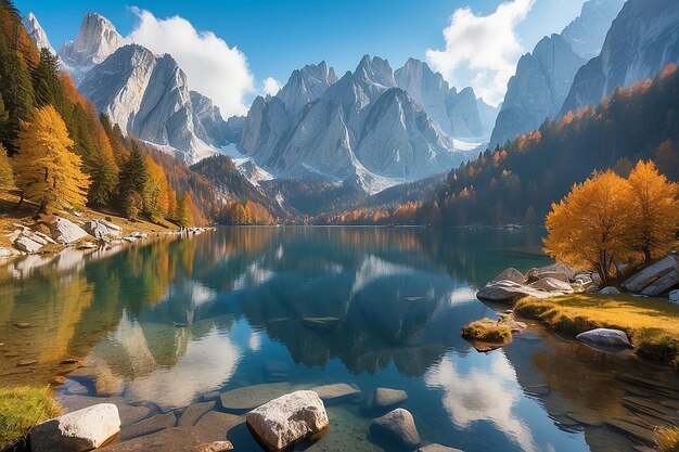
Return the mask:
[[[639,160],[629,173],[630,246],[645,262],[674,247],[679,230],[679,185],[661,175],[653,162]]]

